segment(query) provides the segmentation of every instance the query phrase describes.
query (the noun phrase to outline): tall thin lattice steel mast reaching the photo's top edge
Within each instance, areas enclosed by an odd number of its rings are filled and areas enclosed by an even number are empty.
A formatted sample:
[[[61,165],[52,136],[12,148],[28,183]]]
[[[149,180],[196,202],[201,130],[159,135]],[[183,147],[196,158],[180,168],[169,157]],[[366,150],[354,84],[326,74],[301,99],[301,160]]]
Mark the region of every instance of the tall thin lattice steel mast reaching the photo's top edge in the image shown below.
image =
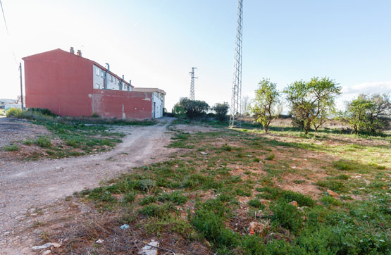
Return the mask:
[[[238,120],[242,110],[242,25],[243,25],[243,0],[239,0],[237,7],[237,28],[236,28],[236,46],[235,46],[235,65],[232,82],[232,100],[230,127],[240,125]]]

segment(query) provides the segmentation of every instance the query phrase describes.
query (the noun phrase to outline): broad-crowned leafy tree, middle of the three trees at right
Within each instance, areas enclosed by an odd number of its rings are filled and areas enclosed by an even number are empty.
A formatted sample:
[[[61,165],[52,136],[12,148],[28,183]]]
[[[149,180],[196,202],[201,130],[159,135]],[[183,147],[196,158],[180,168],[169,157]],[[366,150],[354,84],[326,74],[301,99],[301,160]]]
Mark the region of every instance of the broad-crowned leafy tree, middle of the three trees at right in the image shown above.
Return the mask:
[[[284,89],[284,93],[292,107],[292,117],[302,123],[304,132],[308,134],[321,113],[335,104],[335,97],[341,93],[341,87],[329,77],[314,77],[309,82],[293,82]]]

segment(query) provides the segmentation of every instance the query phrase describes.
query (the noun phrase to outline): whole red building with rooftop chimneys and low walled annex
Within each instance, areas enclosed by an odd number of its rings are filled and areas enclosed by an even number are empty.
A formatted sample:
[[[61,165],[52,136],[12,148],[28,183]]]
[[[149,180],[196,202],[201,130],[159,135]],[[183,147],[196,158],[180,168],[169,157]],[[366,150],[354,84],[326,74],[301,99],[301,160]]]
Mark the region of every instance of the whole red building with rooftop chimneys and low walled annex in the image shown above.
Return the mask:
[[[99,63],[61,49],[27,56],[25,106],[61,116],[160,118],[163,101],[154,92],[135,92],[130,82]],[[163,92],[163,97],[166,93]],[[161,94],[159,94],[161,96]]]

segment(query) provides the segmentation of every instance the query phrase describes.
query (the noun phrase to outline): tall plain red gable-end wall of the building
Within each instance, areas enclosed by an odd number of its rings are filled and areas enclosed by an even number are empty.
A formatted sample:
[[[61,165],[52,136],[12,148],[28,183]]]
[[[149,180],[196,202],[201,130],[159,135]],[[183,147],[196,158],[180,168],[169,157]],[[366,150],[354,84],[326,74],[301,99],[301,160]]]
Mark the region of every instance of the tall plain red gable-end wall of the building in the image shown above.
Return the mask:
[[[63,116],[91,116],[92,61],[56,49],[23,58],[26,107]]]

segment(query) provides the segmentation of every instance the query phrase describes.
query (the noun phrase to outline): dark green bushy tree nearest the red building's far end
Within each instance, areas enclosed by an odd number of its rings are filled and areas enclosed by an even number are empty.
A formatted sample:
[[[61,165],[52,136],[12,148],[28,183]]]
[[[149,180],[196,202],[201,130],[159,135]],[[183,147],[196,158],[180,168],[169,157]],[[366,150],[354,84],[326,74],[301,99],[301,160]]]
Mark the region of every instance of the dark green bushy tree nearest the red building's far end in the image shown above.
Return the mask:
[[[209,105],[205,101],[190,100],[187,97],[182,97],[174,106],[174,112],[177,110],[184,111],[187,118],[195,119],[204,116],[206,111],[209,110]]]

